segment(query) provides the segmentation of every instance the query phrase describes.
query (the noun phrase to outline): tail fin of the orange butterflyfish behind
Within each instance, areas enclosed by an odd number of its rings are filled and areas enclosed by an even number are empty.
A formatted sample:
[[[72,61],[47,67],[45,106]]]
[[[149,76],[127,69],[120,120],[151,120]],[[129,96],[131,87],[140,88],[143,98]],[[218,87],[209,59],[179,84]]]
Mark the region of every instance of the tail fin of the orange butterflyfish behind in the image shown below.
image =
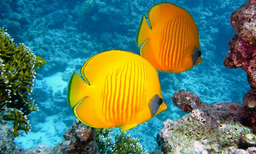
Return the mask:
[[[151,32],[151,29],[148,26],[145,15],[143,14],[142,20],[139,25],[139,30],[137,33],[137,46],[138,47],[149,38],[150,32]]]

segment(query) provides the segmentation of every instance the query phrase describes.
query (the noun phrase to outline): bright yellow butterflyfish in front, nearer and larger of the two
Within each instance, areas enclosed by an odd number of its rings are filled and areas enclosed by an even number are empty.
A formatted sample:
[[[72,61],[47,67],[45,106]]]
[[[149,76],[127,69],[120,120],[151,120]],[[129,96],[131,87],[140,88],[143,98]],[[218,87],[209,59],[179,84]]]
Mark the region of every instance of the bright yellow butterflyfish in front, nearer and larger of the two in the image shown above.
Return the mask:
[[[81,75],[86,82],[76,72],[72,75],[68,101],[85,125],[128,130],[167,108],[156,69],[137,54],[96,54],[84,63]]]

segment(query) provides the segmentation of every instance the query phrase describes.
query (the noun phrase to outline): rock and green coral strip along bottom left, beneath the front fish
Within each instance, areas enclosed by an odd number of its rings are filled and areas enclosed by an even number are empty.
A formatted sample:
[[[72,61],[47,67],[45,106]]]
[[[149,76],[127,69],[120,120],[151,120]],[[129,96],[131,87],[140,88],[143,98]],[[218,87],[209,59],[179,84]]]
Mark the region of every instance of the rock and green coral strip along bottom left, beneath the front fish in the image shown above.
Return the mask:
[[[112,129],[96,129],[86,126],[76,120],[74,124],[64,133],[64,141],[54,147],[48,145],[37,145],[34,148],[22,149],[13,142],[13,128],[0,124],[0,150],[1,153],[140,153],[145,154],[139,141],[132,138],[130,134],[123,131],[111,137]],[[118,150],[118,151],[117,151]]]

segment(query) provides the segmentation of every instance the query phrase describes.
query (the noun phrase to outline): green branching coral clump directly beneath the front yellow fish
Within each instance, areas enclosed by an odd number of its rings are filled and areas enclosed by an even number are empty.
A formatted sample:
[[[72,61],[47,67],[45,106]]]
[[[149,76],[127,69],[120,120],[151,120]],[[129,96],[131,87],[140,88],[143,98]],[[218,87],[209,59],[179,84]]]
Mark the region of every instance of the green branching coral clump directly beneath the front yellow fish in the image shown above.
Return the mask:
[[[119,131],[115,136],[115,141],[111,137],[112,129],[95,129],[95,141],[100,153],[115,154],[115,153],[141,153],[144,154],[147,150],[143,149],[137,138],[132,138],[126,131]]]

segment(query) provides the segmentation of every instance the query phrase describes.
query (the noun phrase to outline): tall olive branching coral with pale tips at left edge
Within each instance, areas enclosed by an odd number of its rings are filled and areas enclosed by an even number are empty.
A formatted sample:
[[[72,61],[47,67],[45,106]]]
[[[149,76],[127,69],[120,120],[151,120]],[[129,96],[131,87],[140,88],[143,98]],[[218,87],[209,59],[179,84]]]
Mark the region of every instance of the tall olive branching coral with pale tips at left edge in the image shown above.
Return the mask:
[[[15,44],[4,28],[0,28],[0,113],[3,120],[13,120],[14,136],[18,130],[27,134],[31,130],[27,115],[38,111],[37,105],[29,97],[40,63],[30,48],[23,43]]]

